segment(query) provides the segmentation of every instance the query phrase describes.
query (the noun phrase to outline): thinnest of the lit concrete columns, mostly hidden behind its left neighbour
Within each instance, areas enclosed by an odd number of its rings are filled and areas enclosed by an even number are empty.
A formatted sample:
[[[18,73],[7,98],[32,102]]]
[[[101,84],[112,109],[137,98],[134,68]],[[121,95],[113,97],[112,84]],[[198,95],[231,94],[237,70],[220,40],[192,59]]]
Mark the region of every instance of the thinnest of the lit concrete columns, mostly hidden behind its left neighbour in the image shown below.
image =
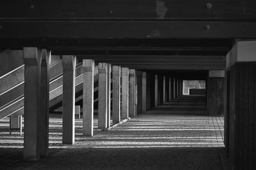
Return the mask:
[[[107,127],[110,127],[111,118],[111,64],[107,66]]]

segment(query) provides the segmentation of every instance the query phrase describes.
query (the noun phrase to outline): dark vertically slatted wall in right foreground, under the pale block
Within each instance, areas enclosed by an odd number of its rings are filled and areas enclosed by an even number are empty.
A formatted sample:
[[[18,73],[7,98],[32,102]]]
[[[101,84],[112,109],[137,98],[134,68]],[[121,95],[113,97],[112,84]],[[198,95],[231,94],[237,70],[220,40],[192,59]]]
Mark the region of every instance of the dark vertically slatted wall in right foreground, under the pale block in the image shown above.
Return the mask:
[[[237,62],[229,73],[226,118],[230,161],[234,169],[255,169],[256,62]]]

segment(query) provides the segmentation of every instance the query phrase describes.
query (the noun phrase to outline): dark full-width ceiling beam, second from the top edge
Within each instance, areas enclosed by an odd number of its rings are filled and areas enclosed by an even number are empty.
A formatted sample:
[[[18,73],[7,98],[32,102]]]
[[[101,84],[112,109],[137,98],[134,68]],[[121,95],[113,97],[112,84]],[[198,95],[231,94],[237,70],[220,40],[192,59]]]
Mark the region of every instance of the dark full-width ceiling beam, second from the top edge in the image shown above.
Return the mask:
[[[2,20],[0,25],[2,39],[256,38],[256,22],[250,20]]]

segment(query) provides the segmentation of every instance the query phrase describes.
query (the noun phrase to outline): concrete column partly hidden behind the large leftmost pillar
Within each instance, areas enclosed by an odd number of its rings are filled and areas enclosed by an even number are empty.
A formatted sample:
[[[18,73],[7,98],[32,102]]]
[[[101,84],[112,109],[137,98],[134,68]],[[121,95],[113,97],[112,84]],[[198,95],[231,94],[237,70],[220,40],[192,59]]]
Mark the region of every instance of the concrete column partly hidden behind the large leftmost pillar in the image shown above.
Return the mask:
[[[49,148],[49,65],[51,63],[51,51],[42,50],[42,67],[41,67],[41,92],[42,108],[39,126],[39,148],[40,157],[48,156]]]

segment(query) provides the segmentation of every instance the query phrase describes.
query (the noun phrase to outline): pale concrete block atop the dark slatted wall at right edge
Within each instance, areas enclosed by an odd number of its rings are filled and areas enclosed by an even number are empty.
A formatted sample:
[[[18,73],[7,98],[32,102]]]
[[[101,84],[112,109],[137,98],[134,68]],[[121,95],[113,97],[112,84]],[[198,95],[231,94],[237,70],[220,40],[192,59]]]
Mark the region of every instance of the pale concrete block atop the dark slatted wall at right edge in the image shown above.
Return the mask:
[[[232,49],[227,53],[227,68],[236,62],[256,61],[256,40],[237,41]]]

